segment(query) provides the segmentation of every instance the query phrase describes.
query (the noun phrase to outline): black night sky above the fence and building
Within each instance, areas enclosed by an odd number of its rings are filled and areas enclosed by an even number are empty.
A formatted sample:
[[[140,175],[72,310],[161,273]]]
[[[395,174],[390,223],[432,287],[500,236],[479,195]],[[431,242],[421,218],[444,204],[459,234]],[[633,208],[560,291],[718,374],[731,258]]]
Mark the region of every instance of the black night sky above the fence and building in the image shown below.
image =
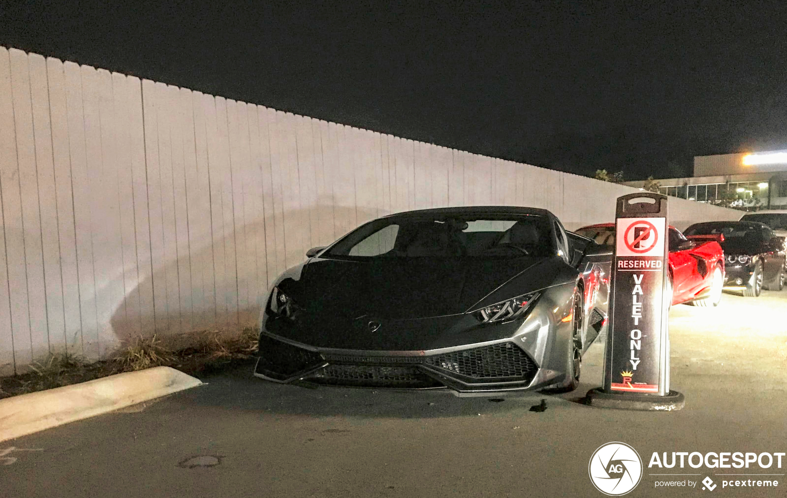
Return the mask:
[[[161,3],[0,0],[0,45],[583,175],[787,149],[787,2]]]

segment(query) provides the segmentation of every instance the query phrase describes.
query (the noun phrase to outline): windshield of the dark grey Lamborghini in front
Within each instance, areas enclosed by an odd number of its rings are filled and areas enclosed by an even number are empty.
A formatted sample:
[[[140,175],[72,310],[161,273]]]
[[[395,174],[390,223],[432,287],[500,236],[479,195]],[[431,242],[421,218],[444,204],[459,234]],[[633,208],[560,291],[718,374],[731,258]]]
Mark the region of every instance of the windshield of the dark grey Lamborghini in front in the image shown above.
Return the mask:
[[[545,257],[555,254],[549,220],[538,215],[394,216],[375,219],[323,257]]]

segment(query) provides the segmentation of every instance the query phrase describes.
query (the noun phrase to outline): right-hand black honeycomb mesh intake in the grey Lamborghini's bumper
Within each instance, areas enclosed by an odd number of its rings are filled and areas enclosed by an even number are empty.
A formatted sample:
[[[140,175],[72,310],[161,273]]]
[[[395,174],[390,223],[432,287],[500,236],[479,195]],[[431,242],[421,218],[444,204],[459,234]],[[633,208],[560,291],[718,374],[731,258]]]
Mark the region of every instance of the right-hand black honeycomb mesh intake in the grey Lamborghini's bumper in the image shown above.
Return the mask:
[[[473,379],[524,378],[530,380],[538,367],[530,356],[511,342],[463,349],[427,357],[427,364]]]

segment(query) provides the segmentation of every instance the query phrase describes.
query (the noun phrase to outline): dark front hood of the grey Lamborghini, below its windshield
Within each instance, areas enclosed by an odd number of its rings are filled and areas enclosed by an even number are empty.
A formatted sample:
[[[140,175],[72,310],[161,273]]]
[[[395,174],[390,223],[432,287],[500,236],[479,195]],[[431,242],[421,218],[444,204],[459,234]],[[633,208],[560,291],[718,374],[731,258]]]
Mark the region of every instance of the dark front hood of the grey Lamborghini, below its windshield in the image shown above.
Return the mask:
[[[531,257],[316,259],[305,265],[300,279],[284,279],[279,288],[310,313],[320,315],[348,318],[375,315],[386,319],[457,315],[516,275],[548,260]],[[549,285],[550,282],[542,280],[534,279],[535,287],[520,284],[517,292],[525,287],[529,289],[523,292]]]

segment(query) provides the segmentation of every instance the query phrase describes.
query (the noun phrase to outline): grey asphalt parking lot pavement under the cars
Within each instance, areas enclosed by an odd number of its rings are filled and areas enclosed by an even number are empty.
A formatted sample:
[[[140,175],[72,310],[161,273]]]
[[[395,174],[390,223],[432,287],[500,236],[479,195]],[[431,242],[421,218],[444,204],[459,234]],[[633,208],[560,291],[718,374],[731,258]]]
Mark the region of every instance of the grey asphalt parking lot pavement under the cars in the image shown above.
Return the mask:
[[[783,496],[782,468],[648,467],[653,452],[785,452],[787,290],[719,308],[674,306],[672,388],[682,411],[589,407],[603,345],[560,397],[490,400],[438,393],[306,389],[250,376],[252,365],[152,403],[0,443],[0,496],[604,496],[589,459],[635,448],[627,496]],[[531,411],[546,400],[545,411]],[[778,474],[776,488],[722,487],[720,474]],[[693,474],[662,476],[654,474]],[[757,478],[757,476],[755,476]],[[759,478],[763,478],[760,475]],[[694,481],[661,488],[657,481]],[[784,481],[784,482],[782,482]]]

